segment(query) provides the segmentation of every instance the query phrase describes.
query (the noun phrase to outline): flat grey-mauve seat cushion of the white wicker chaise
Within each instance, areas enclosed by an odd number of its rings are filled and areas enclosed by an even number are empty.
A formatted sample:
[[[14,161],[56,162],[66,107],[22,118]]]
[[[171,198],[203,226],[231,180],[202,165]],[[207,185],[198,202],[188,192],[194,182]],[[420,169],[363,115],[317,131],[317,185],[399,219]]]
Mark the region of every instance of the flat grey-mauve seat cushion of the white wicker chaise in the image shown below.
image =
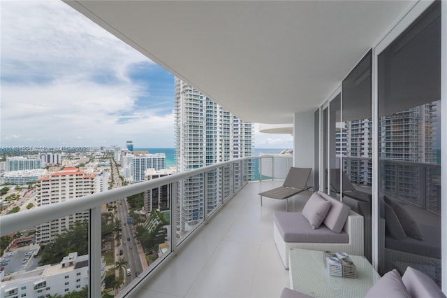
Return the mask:
[[[302,213],[276,212],[273,222],[285,242],[349,243],[349,235],[344,231],[334,233],[325,225],[312,229]]]

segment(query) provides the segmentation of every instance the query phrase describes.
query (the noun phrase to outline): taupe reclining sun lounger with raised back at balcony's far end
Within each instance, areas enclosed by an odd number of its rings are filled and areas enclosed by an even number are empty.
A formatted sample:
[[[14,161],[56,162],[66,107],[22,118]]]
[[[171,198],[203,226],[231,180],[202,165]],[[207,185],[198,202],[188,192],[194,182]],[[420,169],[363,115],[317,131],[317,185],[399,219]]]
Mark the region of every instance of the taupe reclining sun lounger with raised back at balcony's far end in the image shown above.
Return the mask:
[[[295,194],[309,190],[309,188],[312,187],[307,186],[307,180],[309,180],[311,171],[312,168],[291,167],[282,186],[259,193],[261,196],[261,206],[263,206],[263,197],[272,199],[286,199],[286,211],[288,211],[287,199],[289,197],[293,197]]]

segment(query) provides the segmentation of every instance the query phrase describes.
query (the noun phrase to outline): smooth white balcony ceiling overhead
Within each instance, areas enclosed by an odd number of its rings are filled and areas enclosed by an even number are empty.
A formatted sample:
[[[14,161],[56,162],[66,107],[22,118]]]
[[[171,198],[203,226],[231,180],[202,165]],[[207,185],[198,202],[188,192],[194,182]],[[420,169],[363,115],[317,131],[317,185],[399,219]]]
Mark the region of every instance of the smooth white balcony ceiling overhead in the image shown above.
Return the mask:
[[[315,111],[414,1],[66,1],[242,120]]]

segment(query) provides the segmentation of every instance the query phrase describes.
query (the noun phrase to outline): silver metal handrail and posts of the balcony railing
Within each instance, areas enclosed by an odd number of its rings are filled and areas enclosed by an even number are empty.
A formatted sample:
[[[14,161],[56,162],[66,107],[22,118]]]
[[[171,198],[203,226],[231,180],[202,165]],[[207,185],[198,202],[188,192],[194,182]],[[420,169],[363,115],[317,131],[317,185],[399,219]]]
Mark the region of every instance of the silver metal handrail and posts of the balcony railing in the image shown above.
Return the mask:
[[[230,185],[230,197],[232,197],[235,192],[240,190],[248,182],[247,173],[238,172],[240,175],[241,183],[236,187],[235,185],[235,170],[234,165],[240,166],[241,171],[243,171],[242,164],[248,162],[249,159],[259,159],[261,164],[262,157],[243,157],[239,159],[232,159],[228,162],[219,162],[217,164],[212,164],[210,166],[204,166],[202,168],[193,169],[191,171],[186,171],[183,173],[175,173],[170,176],[164,176],[161,178],[156,178],[153,180],[148,180],[133,185],[127,185],[113,190],[107,190],[105,192],[97,192],[94,194],[89,194],[85,197],[80,197],[76,199],[66,200],[59,202],[57,204],[50,204],[45,206],[39,206],[38,208],[32,208],[29,211],[21,211],[17,213],[12,213],[8,215],[3,215],[0,217],[0,236],[6,236],[14,232],[19,232],[24,229],[29,229],[41,225],[44,222],[50,222],[51,220],[57,220],[63,218],[67,215],[73,213],[89,211],[89,297],[101,297],[101,205],[108,204],[112,201],[117,201],[125,197],[130,197],[134,194],[145,192],[147,190],[152,190],[156,187],[161,187],[163,185],[169,185],[171,183],[177,183],[177,181],[190,178],[192,176],[197,176],[205,174],[214,169],[223,169],[226,166],[230,166],[232,169],[231,175],[232,185]],[[245,168],[247,169],[247,168]],[[246,179],[242,179],[242,177]],[[206,175],[204,175],[206,177]],[[223,187],[224,181],[221,180],[221,187]],[[223,189],[222,189],[223,190]],[[222,192],[223,193],[223,192]],[[229,197],[223,197],[220,205],[223,204]],[[204,193],[203,200],[207,200],[207,196]],[[177,222],[175,218],[175,204],[176,200],[173,199],[173,206],[171,206],[171,222],[173,222],[173,231]],[[212,212],[214,213],[214,211]],[[203,220],[207,219],[207,213],[205,211],[205,216]],[[174,238],[175,239],[175,238]],[[175,244],[172,243],[171,253],[177,250]],[[167,262],[167,258],[163,259],[162,263]],[[152,269],[152,272],[156,269]],[[133,286],[133,287],[132,287]],[[129,291],[135,288],[135,283],[129,285],[129,289],[120,292],[119,296],[127,295]],[[131,288],[132,287],[132,288]]]

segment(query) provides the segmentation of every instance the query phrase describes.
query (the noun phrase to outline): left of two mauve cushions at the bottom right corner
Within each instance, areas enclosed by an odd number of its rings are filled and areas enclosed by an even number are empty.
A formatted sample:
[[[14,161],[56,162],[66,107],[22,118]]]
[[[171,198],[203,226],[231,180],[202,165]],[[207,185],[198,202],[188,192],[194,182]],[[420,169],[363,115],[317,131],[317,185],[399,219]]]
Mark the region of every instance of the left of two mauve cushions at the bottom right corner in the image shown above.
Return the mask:
[[[411,298],[396,269],[389,271],[367,292],[365,298]]]

